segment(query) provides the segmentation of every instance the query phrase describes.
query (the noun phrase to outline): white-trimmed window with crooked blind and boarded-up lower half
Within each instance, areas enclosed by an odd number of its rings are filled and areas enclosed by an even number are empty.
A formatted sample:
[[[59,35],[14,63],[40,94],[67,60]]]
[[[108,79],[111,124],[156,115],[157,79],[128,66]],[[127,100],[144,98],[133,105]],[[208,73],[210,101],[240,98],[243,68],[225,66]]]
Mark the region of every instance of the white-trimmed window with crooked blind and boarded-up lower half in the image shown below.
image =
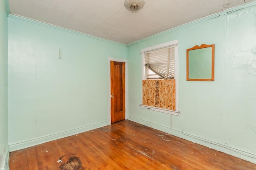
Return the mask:
[[[142,108],[178,115],[178,40],[141,50]]]

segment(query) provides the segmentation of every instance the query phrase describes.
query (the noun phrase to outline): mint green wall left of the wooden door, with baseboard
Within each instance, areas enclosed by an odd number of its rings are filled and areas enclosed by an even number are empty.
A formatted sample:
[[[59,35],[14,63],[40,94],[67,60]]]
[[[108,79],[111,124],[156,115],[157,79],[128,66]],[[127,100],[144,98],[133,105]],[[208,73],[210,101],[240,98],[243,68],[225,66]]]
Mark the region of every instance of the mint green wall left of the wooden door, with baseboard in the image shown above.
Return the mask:
[[[10,150],[108,125],[108,57],[127,46],[10,16]]]

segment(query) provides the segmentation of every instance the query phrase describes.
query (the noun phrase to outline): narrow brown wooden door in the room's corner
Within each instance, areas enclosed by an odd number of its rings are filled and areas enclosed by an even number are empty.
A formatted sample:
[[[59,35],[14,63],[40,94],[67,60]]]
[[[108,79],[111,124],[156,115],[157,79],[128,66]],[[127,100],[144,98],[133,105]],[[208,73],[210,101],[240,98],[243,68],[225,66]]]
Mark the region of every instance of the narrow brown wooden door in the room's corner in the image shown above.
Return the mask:
[[[110,61],[111,123],[125,119],[125,63]]]

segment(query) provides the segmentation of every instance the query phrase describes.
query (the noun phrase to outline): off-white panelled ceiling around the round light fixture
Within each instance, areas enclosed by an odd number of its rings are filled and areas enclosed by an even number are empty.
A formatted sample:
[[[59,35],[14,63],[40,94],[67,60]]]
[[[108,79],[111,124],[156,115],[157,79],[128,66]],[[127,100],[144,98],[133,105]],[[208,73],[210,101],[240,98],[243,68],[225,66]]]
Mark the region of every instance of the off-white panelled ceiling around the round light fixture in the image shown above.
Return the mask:
[[[132,43],[255,0],[145,0],[131,13],[124,0],[9,0],[10,13],[120,43]]]

